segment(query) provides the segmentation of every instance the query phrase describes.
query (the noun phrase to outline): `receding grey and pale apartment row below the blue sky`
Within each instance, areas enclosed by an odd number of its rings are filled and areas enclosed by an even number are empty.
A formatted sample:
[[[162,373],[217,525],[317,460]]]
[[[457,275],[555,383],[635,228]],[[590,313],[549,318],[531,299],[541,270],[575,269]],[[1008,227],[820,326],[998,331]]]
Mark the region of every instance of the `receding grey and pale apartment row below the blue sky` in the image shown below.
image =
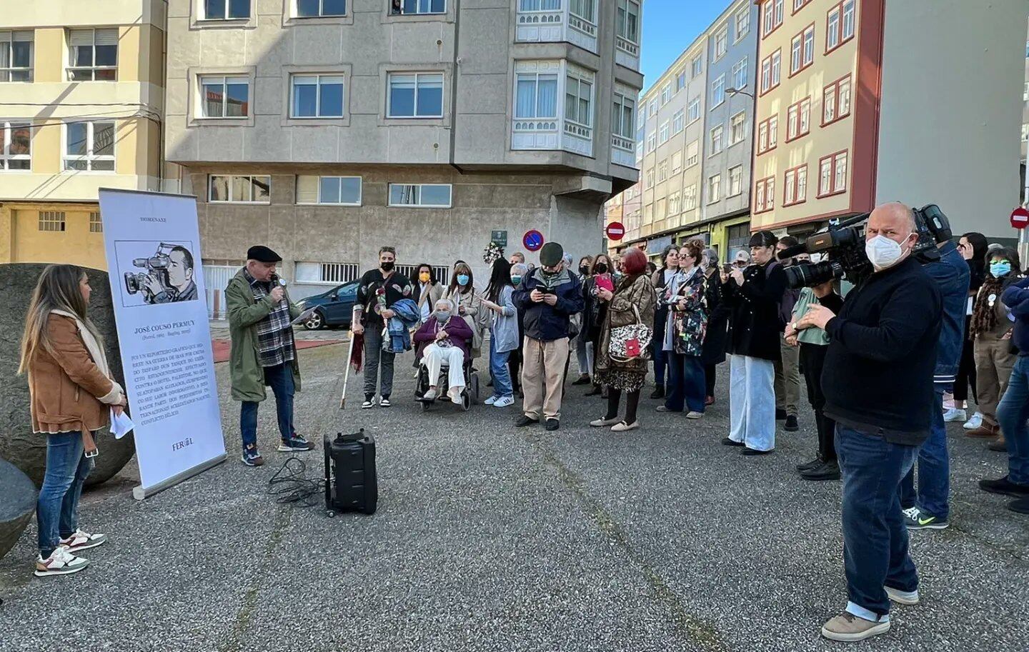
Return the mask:
[[[699,238],[725,252],[747,232],[756,16],[750,0],[731,3],[643,94],[641,180],[622,200],[627,232],[612,248],[658,256]]]

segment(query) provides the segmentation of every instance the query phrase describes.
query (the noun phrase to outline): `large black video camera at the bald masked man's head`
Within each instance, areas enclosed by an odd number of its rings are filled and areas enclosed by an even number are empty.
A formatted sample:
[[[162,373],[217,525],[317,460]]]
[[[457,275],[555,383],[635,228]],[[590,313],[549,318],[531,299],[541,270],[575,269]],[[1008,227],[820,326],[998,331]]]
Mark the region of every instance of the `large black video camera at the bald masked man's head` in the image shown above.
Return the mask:
[[[951,223],[935,204],[915,209],[918,242],[912,249],[922,264],[939,259],[936,245],[953,238]],[[864,253],[864,225],[870,213],[855,215],[829,225],[795,247],[779,252],[779,258],[800,254],[824,254],[821,262],[802,262],[786,267],[786,285],[790,289],[814,287],[826,281],[846,278],[857,285],[874,271]]]

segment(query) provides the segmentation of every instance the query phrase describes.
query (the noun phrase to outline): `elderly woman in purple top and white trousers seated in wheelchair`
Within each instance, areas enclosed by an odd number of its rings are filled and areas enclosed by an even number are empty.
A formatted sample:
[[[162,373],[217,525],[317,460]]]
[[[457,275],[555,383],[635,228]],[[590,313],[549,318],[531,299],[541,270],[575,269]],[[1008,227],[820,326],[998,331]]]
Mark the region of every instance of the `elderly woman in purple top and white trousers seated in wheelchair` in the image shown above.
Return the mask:
[[[457,314],[453,303],[449,299],[436,301],[432,315],[415,333],[415,345],[424,367],[419,372],[419,389],[424,389],[422,378],[427,378],[424,383],[428,384],[420,399],[424,404],[439,396],[443,367],[448,368],[448,396],[458,405],[464,402],[465,363],[470,360],[471,339],[471,328]]]

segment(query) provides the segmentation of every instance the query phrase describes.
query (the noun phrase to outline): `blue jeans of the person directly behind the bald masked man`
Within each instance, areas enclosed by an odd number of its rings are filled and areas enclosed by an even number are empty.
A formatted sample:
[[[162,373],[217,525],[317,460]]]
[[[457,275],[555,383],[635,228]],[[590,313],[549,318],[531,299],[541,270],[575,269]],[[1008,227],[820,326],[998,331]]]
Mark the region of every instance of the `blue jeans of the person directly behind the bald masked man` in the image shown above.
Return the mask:
[[[915,469],[900,482],[900,506],[918,506],[919,511],[941,520],[951,513],[951,464],[947,454],[947,424],[944,422],[944,388],[935,392],[932,427],[929,438],[918,450],[918,493],[915,493]]]

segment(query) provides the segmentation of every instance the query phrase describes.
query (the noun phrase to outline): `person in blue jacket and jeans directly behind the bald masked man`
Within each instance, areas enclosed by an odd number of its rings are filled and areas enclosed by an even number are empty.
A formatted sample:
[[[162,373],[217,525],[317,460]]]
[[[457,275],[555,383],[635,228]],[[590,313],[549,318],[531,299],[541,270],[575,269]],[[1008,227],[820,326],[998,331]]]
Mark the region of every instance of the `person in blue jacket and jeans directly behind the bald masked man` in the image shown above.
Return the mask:
[[[968,263],[952,241],[941,243],[936,248],[939,260],[923,268],[939,288],[944,315],[936,342],[932,429],[918,451],[918,491],[915,491],[914,468],[900,483],[900,507],[909,530],[943,530],[950,524],[951,465],[944,421],[944,392],[954,389],[958,373],[970,273]]]

